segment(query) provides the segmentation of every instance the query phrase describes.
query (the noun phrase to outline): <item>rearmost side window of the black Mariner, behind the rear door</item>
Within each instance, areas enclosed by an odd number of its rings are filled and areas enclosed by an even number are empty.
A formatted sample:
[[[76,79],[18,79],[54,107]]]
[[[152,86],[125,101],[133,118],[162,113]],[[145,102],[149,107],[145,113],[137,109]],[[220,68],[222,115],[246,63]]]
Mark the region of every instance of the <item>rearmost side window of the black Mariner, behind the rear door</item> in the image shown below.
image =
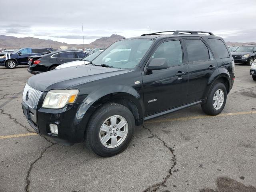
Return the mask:
[[[222,40],[208,39],[208,41],[210,42],[211,49],[214,50],[214,52],[216,52],[218,54],[218,57],[220,59],[230,57],[228,50]]]

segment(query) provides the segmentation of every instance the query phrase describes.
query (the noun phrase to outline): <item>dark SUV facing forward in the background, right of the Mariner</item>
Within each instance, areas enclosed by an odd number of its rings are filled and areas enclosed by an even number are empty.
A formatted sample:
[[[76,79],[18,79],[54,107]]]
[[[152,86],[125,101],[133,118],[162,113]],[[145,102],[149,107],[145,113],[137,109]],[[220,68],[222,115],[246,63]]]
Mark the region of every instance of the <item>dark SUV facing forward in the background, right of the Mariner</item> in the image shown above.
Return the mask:
[[[235,63],[252,65],[256,58],[256,45],[242,45],[232,52]]]

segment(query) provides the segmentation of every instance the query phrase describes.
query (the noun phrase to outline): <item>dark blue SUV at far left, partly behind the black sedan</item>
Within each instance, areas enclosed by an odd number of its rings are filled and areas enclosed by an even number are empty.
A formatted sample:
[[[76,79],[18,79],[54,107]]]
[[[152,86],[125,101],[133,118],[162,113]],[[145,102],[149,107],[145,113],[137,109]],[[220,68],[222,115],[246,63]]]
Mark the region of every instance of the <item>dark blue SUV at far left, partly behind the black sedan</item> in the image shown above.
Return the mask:
[[[52,52],[52,48],[22,48],[10,54],[10,57],[7,55],[8,58],[0,58],[0,66],[14,69],[18,65],[27,65],[30,55],[42,55],[49,52]]]

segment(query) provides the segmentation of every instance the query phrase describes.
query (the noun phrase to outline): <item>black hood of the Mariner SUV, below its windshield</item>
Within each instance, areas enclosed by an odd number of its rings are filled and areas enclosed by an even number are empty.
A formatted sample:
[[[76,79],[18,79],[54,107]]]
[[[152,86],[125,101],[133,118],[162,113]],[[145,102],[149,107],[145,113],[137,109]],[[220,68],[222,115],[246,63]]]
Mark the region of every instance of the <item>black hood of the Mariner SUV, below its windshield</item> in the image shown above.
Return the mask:
[[[40,91],[67,89],[70,86],[126,73],[130,70],[79,65],[34,75],[27,84]]]

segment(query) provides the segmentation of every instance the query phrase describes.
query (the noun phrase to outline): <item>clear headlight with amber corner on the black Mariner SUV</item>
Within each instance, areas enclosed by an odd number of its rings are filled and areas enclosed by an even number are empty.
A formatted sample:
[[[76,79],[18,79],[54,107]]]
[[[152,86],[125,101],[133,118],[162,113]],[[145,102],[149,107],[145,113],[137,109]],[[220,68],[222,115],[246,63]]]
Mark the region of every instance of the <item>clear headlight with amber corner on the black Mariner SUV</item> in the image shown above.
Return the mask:
[[[66,104],[74,103],[79,93],[77,89],[70,90],[50,90],[44,98],[44,108],[60,109]]]

